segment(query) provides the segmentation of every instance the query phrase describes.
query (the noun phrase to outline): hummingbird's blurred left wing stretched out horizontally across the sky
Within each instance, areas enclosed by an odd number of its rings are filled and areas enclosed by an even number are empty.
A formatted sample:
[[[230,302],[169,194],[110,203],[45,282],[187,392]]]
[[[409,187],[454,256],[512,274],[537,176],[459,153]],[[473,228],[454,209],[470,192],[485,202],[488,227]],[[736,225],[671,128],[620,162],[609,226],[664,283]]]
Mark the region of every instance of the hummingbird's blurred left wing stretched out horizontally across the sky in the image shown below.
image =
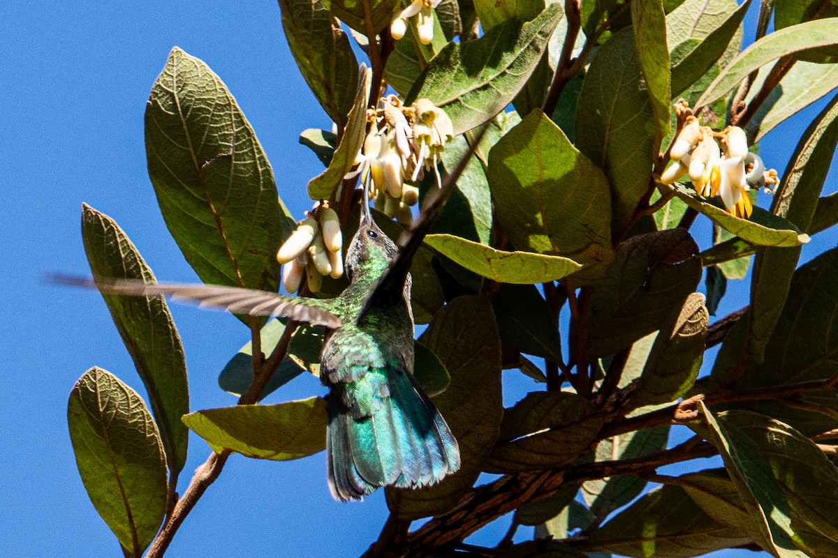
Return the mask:
[[[330,311],[330,301],[282,296],[266,290],[240,289],[217,284],[150,284],[137,279],[93,280],[58,274],[48,276],[47,280],[55,284],[99,289],[102,293],[132,296],[169,294],[173,300],[196,302],[200,308],[218,308],[233,314],[278,316],[313,325],[325,325],[331,329],[343,325],[339,317]]]

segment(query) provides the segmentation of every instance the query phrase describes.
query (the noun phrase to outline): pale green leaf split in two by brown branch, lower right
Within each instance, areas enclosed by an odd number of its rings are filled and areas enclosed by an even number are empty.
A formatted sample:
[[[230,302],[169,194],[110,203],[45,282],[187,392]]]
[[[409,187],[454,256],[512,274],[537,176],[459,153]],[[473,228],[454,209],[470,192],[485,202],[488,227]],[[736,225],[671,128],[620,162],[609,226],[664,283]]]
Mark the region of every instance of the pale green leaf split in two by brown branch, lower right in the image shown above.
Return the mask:
[[[654,427],[606,438],[597,445],[597,461],[642,458],[663,451],[670,427]],[[593,517],[604,518],[636,498],[646,486],[645,479],[633,474],[611,479],[589,480],[582,484],[582,496]]]

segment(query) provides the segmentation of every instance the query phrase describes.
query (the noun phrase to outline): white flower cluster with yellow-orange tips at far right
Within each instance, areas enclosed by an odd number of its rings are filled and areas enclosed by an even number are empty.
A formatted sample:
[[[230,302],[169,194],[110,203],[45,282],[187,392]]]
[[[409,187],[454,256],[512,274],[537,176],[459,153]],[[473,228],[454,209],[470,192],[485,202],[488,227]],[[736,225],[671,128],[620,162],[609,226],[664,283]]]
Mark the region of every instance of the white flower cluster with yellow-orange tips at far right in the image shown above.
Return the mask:
[[[745,131],[727,126],[722,132],[699,124],[687,115],[670,149],[674,164],[661,175],[660,182],[672,184],[689,174],[696,192],[705,197],[722,197],[727,212],[748,218],[753,212],[752,187],[776,184],[777,171],[766,171],[763,160],[748,151]],[[770,190],[768,190],[770,191]]]

